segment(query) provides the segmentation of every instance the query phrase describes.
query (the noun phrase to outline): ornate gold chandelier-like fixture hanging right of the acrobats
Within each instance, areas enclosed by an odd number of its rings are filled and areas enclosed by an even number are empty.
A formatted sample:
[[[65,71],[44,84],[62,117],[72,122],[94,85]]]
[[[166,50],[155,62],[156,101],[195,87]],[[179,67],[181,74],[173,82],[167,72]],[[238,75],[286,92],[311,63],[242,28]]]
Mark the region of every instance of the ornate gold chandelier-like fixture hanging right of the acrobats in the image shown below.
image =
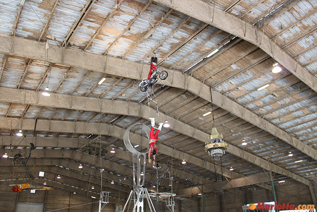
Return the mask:
[[[222,156],[225,153],[225,150],[228,148],[228,143],[222,141],[222,134],[219,134],[215,124],[214,124],[214,112],[213,112],[213,104],[212,104],[212,94],[211,94],[211,113],[212,113],[212,129],[210,135],[210,142],[205,143],[205,151],[208,152],[209,155],[213,157]]]

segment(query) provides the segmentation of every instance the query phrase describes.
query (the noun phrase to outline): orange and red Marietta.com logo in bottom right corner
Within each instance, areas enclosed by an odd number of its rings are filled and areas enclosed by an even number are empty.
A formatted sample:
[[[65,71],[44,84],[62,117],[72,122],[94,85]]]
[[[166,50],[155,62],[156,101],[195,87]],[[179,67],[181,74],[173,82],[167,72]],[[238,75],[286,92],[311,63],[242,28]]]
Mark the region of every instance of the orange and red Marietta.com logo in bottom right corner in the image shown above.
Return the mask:
[[[295,205],[290,205],[289,203],[287,203],[287,204],[283,203],[282,205],[278,205],[277,203],[275,203],[274,205],[258,203],[257,206],[255,204],[250,204],[249,209],[250,210],[257,209],[257,210],[309,210],[309,211],[314,211],[315,205],[298,205],[298,207],[295,207]]]

